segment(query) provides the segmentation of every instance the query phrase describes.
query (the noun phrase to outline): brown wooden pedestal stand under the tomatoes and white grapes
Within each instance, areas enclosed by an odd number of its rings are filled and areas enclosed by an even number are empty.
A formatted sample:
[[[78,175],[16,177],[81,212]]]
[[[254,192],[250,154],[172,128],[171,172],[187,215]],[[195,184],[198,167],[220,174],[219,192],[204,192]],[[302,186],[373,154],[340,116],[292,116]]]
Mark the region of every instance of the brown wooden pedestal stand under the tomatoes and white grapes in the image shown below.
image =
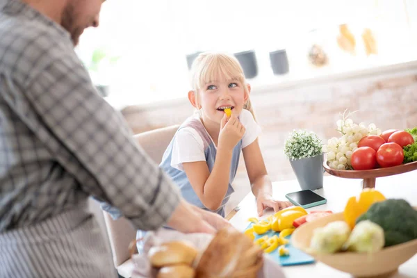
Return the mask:
[[[417,161],[401,164],[393,167],[377,168],[371,170],[336,170],[327,165],[327,161],[323,162],[325,171],[336,177],[346,179],[363,179],[363,188],[374,188],[375,179],[377,177],[387,177],[394,174],[402,174],[417,170]]]

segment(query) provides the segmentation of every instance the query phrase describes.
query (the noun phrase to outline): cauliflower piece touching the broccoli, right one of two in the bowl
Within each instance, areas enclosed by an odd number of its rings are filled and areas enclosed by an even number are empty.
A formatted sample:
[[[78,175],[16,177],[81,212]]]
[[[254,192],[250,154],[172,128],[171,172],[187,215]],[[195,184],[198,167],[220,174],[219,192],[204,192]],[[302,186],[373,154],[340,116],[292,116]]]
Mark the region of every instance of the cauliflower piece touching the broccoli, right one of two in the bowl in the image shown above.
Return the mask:
[[[384,229],[370,220],[359,222],[350,234],[345,248],[360,253],[373,253],[385,245]]]

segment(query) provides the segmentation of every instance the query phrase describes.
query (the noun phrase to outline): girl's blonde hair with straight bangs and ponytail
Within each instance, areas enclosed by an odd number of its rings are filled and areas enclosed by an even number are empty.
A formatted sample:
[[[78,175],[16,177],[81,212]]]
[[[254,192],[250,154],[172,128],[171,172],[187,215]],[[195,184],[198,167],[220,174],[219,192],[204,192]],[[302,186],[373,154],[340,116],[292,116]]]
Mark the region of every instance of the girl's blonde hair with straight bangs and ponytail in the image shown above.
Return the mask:
[[[243,84],[243,88],[249,96],[245,74],[239,61],[234,56],[224,53],[204,52],[195,58],[191,67],[191,87],[196,97],[204,84],[218,79],[219,76],[224,79],[237,79]],[[250,97],[248,97],[243,108],[250,111],[255,118]]]

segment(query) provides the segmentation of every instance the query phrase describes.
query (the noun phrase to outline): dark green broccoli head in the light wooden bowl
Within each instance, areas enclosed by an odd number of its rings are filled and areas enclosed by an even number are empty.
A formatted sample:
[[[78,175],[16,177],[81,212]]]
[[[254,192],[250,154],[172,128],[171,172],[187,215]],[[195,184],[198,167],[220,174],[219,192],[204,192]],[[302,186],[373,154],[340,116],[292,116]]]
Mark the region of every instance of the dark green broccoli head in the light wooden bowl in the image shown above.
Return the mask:
[[[370,206],[357,223],[370,220],[384,229],[385,247],[417,238],[417,211],[404,199],[386,199]]]

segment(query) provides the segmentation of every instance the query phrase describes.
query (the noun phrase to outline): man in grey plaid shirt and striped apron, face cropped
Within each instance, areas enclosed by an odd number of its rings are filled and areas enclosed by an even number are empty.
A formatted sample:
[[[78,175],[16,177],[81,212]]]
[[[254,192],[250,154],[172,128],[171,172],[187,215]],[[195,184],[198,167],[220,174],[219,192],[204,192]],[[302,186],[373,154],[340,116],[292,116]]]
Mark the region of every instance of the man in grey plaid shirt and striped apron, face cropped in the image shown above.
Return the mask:
[[[138,229],[225,224],[181,199],[97,95],[74,45],[101,3],[0,0],[0,277],[114,275],[90,195]]]

